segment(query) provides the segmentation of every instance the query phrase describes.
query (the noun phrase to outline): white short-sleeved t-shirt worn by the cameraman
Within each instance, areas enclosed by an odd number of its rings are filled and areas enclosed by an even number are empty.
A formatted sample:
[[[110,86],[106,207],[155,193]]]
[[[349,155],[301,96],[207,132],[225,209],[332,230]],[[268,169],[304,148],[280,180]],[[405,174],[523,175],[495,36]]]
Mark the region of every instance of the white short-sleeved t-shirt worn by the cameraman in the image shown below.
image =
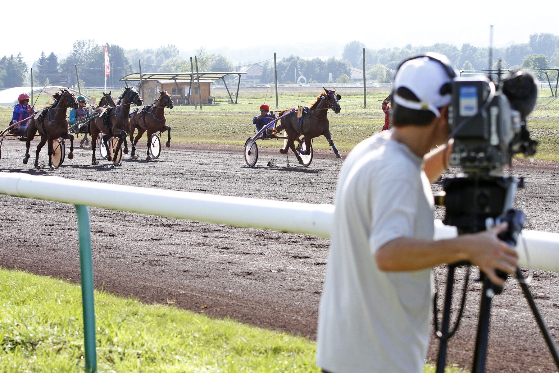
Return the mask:
[[[375,252],[399,237],[433,239],[433,193],[423,159],[391,133],[359,143],[338,178],[316,352],[332,373],[423,372],[431,270],[383,272]]]

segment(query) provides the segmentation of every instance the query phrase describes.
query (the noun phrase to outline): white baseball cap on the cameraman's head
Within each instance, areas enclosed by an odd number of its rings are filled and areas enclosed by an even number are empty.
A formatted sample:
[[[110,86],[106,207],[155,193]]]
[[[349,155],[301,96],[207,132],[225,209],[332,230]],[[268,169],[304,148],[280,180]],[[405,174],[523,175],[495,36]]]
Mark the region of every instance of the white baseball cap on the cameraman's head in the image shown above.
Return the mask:
[[[427,53],[406,60],[400,65],[394,78],[393,100],[401,106],[415,110],[429,110],[440,117],[439,107],[451,102],[449,84],[456,72],[447,56]],[[408,100],[398,95],[398,88],[405,87],[419,98]]]

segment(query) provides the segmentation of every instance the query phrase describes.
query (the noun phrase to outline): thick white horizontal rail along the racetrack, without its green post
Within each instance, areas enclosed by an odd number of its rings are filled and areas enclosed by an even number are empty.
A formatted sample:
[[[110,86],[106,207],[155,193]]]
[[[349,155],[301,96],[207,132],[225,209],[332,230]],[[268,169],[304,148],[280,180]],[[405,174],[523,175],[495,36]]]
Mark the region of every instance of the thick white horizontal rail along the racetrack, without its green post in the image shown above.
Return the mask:
[[[312,234],[324,238],[330,237],[330,225],[334,216],[334,205],[329,204],[169,191],[15,172],[0,172],[0,193],[169,218]],[[456,235],[455,227],[435,220],[435,239],[453,238]],[[559,272],[559,234],[523,230],[522,236],[523,239],[520,237],[517,243],[520,266],[528,266],[525,243],[533,268]]]

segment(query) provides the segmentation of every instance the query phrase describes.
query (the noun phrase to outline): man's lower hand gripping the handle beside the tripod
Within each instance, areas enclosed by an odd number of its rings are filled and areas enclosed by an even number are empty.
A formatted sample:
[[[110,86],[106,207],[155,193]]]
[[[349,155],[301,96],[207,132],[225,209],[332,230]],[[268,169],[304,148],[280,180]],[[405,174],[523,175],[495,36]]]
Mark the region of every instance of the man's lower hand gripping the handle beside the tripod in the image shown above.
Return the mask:
[[[497,276],[495,270],[515,273],[518,265],[517,252],[497,237],[507,226],[507,223],[502,223],[484,232],[463,234],[456,238],[468,254],[468,261],[480,267],[491,282],[499,286],[503,286],[505,281]]]

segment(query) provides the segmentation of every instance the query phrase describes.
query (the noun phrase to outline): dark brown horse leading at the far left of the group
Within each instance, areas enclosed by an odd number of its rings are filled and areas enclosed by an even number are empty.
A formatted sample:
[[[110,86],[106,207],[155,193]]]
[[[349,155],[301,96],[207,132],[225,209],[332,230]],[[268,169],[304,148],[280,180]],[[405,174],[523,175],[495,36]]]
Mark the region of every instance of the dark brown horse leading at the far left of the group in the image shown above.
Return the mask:
[[[74,158],[74,136],[68,132],[66,111],[68,107],[73,107],[74,110],[77,110],[79,104],[78,101],[75,100],[74,94],[70,92],[69,89],[60,88],[60,91],[61,93],[55,93],[53,95],[53,105],[43,108],[37,119],[32,118],[29,121],[23,164],[27,164],[27,160],[30,158],[29,148],[31,146],[31,140],[35,137],[37,130],[39,130],[39,135],[41,135],[41,141],[39,145],[37,145],[37,150],[35,151],[35,168],[41,168],[39,166],[39,153],[43,145],[47,143],[49,148],[49,168],[54,170],[53,160],[51,158],[53,155],[53,141],[58,138],[70,139],[70,153],[68,154],[68,159]]]

